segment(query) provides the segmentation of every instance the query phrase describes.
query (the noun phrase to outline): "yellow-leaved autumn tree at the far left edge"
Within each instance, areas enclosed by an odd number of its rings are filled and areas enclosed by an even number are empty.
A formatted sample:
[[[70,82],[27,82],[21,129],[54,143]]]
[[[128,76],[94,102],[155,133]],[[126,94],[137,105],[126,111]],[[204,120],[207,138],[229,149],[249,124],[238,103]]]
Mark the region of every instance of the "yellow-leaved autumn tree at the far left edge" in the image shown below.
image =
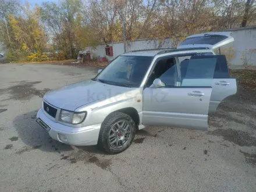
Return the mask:
[[[17,1],[3,1],[1,5],[0,41],[9,49],[10,60],[27,60],[31,53],[41,56],[47,37],[41,27],[39,9],[29,3],[19,6]],[[13,7],[11,7],[13,6]]]

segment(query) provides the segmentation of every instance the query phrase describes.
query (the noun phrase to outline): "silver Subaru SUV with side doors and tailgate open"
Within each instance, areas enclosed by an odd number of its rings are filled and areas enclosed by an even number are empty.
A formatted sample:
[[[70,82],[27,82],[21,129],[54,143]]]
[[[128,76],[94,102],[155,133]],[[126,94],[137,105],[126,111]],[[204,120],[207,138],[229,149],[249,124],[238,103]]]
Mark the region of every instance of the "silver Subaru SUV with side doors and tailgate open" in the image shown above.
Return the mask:
[[[236,94],[225,55],[229,33],[187,37],[177,49],[131,51],[94,79],[44,95],[37,122],[49,136],[72,145],[126,150],[147,125],[207,130],[208,113]]]

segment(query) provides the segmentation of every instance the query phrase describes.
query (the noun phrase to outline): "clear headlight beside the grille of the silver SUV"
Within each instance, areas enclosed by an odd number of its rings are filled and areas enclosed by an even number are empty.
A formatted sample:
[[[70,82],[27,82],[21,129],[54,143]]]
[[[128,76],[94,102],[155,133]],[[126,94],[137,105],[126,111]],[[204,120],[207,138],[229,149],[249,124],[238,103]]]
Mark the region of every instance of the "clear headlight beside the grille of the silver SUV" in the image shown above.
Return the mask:
[[[59,114],[59,120],[65,123],[79,124],[86,118],[86,111],[84,112],[72,112],[61,110]]]

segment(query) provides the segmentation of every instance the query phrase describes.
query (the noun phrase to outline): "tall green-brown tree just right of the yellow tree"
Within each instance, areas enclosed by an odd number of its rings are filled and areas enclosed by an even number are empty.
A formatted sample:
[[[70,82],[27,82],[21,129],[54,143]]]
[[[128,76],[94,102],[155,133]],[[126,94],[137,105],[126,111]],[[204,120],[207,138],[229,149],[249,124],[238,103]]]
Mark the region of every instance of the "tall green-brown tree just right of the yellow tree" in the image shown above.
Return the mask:
[[[81,9],[80,0],[65,0],[59,5],[44,2],[40,8],[45,30],[52,36],[54,47],[62,50],[66,58],[76,58],[76,20]],[[78,44],[79,45],[79,44]]]

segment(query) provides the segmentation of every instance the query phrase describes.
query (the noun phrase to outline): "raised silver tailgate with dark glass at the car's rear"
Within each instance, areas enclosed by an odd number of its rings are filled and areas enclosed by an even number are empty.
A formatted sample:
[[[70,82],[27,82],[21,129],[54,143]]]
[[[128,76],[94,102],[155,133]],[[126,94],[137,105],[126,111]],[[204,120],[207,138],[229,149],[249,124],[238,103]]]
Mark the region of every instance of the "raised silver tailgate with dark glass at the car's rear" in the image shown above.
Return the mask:
[[[231,32],[209,32],[190,35],[177,48],[208,47],[209,49],[216,49],[233,41]]]

